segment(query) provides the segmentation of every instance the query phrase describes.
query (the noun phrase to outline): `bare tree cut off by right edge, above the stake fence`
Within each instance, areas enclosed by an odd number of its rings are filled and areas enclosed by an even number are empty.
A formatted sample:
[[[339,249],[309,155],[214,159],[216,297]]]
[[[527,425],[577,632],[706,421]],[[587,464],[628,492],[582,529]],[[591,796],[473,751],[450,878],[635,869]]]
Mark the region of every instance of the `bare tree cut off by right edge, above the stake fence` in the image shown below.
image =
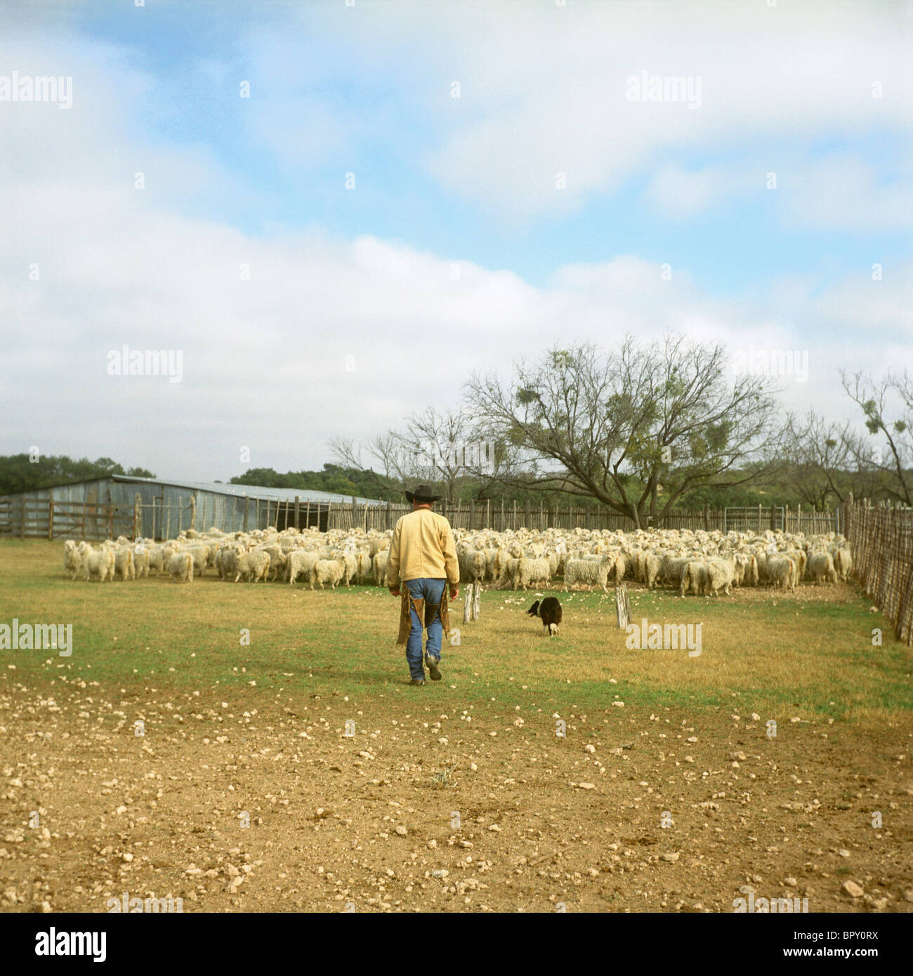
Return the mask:
[[[904,505],[913,506],[913,378],[889,372],[879,381],[863,373],[840,373],[841,382],[851,400],[865,416],[869,433],[883,433],[887,451],[881,444],[867,444],[863,438],[854,443],[853,455],[861,468],[872,468],[886,475],[885,490]],[[899,403],[892,407],[891,400]],[[895,420],[888,419],[894,410]]]

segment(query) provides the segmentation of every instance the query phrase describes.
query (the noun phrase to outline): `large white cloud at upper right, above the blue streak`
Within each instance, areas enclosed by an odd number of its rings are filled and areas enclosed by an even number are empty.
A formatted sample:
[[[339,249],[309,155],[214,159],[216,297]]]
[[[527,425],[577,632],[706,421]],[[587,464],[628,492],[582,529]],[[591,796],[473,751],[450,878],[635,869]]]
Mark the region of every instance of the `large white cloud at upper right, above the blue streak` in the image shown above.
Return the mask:
[[[572,212],[662,170],[673,151],[750,149],[763,181],[784,140],[908,130],[913,68],[888,7],[588,5],[543,7],[522,21],[515,13],[492,13],[483,36],[450,39],[468,117],[437,110],[450,125],[429,165],[441,183],[516,220]],[[699,78],[701,107],[626,101],[626,78],[642,71]],[[566,190],[556,190],[557,172]],[[658,178],[660,202],[662,181],[674,176]],[[696,199],[685,213],[712,195],[712,180],[687,189]]]

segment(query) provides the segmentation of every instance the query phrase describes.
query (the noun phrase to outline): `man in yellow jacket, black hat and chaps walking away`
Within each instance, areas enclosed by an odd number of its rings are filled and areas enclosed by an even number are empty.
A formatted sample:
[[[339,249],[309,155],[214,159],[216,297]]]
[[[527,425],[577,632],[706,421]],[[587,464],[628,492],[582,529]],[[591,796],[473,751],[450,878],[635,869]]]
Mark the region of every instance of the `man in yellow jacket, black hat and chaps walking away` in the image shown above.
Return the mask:
[[[428,628],[428,672],[433,681],[439,681],[441,637],[450,630],[447,584],[450,599],[455,600],[460,594],[460,565],[450,523],[432,510],[440,496],[428,485],[418,485],[414,492],[406,492],[406,498],[412,511],[396,522],[387,556],[387,585],[394,596],[402,598],[396,642],[406,645],[411,684],[423,685],[422,630]]]

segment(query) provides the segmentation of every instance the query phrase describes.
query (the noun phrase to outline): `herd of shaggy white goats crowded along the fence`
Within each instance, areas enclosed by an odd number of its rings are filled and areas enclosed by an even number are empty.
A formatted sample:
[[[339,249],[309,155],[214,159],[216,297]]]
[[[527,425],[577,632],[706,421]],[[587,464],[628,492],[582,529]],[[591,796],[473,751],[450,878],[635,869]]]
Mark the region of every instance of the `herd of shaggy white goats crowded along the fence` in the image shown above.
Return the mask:
[[[387,550],[392,531],[273,528],[226,534],[182,532],[164,543],[130,542],[124,536],[98,546],[68,540],[63,567],[71,579],[135,580],[168,573],[179,583],[214,569],[226,581],[282,580],[329,585],[387,584]],[[464,583],[500,589],[545,589],[562,577],[564,590],[602,587],[623,580],[673,587],[682,595],[718,595],[731,587],[766,584],[796,590],[803,580],[836,583],[852,569],[843,536],[805,536],[767,531],[694,532],[651,529],[609,532],[574,529],[454,531]]]

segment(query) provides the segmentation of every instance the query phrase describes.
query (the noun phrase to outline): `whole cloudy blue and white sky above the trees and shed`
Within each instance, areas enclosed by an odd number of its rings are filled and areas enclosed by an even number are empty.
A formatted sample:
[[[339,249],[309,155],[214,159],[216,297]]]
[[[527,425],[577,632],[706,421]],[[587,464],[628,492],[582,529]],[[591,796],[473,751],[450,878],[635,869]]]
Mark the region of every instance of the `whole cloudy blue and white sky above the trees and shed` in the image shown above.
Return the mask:
[[[320,468],[626,334],[806,353],[784,409],[853,418],[841,368],[913,370],[911,28],[907,0],[0,0],[0,454]],[[125,346],[180,377],[117,375]]]

